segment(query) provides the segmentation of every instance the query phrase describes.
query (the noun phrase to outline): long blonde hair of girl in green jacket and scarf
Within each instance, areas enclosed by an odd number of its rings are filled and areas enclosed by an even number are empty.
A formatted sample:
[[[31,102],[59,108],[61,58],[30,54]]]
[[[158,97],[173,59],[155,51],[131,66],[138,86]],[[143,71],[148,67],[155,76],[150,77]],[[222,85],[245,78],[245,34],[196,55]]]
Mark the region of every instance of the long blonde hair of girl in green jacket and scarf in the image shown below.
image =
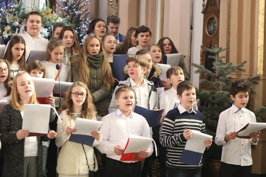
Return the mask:
[[[113,74],[110,64],[108,63],[107,56],[103,50],[102,41],[97,34],[91,33],[86,37],[83,48],[76,56],[74,55],[71,64],[74,65],[76,62],[78,63],[79,80],[85,83],[88,87],[90,87],[91,79],[89,77],[90,77],[90,68],[92,66],[90,65],[90,63],[87,62],[87,56],[90,55],[90,53],[88,53],[88,46],[90,45],[90,42],[93,38],[96,38],[100,41],[99,53],[103,53],[101,87],[105,87],[108,91],[111,91],[113,89]]]

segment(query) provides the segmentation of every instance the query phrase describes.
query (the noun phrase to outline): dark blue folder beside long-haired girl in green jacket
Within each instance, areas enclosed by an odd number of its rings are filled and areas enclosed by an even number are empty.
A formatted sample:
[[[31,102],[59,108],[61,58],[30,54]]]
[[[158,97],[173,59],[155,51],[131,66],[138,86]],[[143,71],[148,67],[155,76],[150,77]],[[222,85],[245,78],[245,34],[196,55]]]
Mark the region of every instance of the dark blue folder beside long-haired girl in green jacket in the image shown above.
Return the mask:
[[[125,78],[125,74],[123,72],[123,68],[126,65],[126,60],[127,60],[128,55],[114,55],[113,56],[113,76],[116,78],[118,81],[121,81]]]

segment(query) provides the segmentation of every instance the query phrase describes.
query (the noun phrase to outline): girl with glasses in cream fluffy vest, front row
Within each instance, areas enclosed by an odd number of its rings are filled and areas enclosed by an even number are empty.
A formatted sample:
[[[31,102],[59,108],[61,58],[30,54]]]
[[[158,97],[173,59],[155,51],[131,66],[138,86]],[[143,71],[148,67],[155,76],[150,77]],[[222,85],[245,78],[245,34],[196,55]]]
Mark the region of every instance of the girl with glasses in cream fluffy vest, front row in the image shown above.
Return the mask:
[[[92,96],[87,86],[82,82],[73,83],[60,110],[60,118],[57,121],[58,136],[55,142],[61,150],[56,171],[59,176],[88,176],[89,170],[98,169],[93,147],[100,143],[101,133],[91,132],[95,138],[92,147],[68,141],[72,132],[77,130],[74,128],[77,118],[96,120]]]

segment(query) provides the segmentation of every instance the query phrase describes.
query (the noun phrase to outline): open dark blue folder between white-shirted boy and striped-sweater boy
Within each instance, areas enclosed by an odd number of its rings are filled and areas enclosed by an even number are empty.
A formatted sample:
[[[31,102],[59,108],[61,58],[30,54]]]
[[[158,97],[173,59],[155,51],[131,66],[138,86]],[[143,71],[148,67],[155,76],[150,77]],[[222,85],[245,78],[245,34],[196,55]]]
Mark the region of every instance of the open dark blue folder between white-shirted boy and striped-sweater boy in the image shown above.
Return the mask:
[[[147,120],[149,127],[156,127],[160,124],[161,116],[164,112],[164,109],[151,110],[136,105],[134,112],[143,116]]]

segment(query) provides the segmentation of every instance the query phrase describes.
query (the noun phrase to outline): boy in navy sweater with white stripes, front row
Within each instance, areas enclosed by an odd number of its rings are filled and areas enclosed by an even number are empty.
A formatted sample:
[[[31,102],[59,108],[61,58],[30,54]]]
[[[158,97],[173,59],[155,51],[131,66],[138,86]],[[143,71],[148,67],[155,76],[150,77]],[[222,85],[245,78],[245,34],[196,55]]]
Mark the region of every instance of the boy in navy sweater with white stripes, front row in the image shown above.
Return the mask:
[[[203,115],[193,109],[196,101],[195,86],[189,81],[182,81],[177,86],[178,107],[167,113],[161,135],[161,143],[167,149],[169,176],[201,176],[200,166],[181,163],[180,157],[188,139],[192,137],[192,129],[206,133]],[[205,140],[210,147],[212,139]]]

